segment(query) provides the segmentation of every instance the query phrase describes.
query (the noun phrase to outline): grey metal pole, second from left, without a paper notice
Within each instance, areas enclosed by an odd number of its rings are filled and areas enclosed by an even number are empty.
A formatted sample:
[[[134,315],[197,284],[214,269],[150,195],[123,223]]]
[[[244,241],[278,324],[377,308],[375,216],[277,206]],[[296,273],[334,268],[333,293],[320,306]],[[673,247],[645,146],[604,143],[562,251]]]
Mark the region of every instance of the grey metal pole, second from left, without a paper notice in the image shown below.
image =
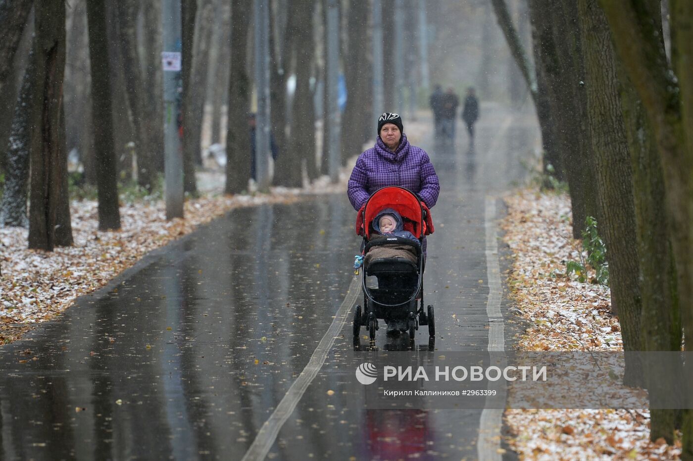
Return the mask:
[[[270,1],[255,0],[255,177],[258,190],[270,188]]]

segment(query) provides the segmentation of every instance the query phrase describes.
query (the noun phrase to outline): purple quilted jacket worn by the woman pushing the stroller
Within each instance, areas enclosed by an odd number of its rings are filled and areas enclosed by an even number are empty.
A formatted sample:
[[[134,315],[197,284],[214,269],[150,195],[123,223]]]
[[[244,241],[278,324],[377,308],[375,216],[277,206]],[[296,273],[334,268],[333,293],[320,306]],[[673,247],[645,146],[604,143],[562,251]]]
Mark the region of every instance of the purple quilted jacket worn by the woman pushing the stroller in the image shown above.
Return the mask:
[[[419,195],[432,208],[438,200],[440,183],[426,151],[413,146],[402,134],[395,152],[387,150],[378,136],[376,145],[358,156],[347,185],[351,206],[360,210],[368,197],[385,186],[401,186]]]

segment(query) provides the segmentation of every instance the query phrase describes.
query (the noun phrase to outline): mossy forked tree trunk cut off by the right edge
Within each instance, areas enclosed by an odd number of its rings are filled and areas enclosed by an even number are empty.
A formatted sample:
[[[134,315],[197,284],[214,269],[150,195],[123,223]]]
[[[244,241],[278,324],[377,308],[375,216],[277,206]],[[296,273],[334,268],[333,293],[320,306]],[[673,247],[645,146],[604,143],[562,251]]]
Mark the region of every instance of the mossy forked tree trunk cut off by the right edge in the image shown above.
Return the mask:
[[[685,332],[693,332],[693,145],[690,126],[690,42],[693,41],[690,2],[674,0],[672,10],[672,66],[669,66],[660,33],[653,21],[660,3],[600,0],[613,33],[624,69],[642,100],[656,136],[665,178],[665,197],[670,237],[676,262],[678,300]],[[677,75],[676,78],[674,75]],[[687,338],[690,340],[690,338]],[[686,350],[693,341],[686,341]],[[683,382],[693,381],[693,367],[687,363]],[[683,412],[683,459],[693,459],[693,411]]]

